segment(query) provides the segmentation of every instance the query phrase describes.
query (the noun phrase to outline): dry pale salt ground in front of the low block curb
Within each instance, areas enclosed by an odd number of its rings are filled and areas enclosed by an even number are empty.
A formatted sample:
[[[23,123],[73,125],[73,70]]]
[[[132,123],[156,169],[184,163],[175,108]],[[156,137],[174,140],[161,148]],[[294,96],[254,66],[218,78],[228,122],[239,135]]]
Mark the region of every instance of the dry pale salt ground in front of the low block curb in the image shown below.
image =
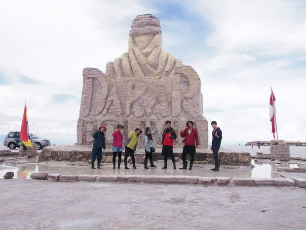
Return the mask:
[[[306,189],[0,180],[0,230],[302,230]]]

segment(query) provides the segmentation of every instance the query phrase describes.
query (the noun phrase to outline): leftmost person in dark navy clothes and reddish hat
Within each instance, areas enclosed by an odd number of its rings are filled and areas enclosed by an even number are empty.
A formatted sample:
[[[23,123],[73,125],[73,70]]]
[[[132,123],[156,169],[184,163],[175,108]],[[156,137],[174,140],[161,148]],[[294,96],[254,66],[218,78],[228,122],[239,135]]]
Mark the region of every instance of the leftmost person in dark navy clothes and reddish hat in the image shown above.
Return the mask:
[[[92,156],[91,156],[91,168],[95,168],[95,160],[98,160],[98,169],[100,168],[100,164],[102,161],[102,148],[105,150],[105,135],[106,126],[101,125],[99,130],[93,133],[92,137],[94,138],[93,147],[92,147]]]

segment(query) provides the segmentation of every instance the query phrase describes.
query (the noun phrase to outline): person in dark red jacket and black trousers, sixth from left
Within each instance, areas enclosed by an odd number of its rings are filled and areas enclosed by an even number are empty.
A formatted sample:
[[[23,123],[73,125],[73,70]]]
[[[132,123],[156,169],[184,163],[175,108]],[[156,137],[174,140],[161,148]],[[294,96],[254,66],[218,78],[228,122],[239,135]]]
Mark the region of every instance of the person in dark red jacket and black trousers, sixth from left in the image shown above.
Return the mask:
[[[190,154],[191,159],[189,170],[191,170],[194,161],[195,148],[199,145],[199,137],[197,134],[197,130],[193,128],[192,121],[188,121],[186,123],[186,126],[187,128],[183,129],[180,133],[181,138],[185,138],[185,145],[183,147],[182,153],[183,168],[180,169],[187,169],[188,162],[186,160],[186,155]]]

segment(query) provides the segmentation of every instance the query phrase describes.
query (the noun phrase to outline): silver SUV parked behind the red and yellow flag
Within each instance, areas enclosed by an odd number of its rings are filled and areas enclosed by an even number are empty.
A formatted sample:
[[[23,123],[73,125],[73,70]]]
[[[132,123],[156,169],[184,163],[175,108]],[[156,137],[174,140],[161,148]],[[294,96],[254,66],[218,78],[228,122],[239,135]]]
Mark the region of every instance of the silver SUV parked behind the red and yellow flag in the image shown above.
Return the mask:
[[[19,145],[19,138],[20,138],[20,132],[11,131],[9,132],[6,137],[4,138],[3,144],[7,146],[9,149],[15,149],[17,147],[20,147]],[[50,140],[48,139],[40,139],[35,134],[29,134],[30,141],[32,143],[37,144],[37,149],[42,149],[45,146],[50,146]]]

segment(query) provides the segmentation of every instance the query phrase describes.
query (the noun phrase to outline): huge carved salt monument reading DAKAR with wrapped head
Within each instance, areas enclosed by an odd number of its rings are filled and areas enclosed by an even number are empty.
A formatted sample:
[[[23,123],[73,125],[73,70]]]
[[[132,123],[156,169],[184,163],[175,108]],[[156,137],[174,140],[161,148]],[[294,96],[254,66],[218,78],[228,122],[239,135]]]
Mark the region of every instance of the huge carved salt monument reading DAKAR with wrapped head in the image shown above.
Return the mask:
[[[203,116],[201,81],[193,68],[162,50],[159,19],[152,14],[137,16],[131,25],[128,52],[108,62],[103,73],[83,69],[83,89],[77,121],[77,145],[92,145],[92,133],[107,127],[106,143],[122,124],[123,137],[140,128],[156,130],[154,142],[161,146],[165,121],[170,120],[182,146],[180,131],[192,120],[198,130],[199,147],[208,148],[208,122]],[[144,134],[139,146],[143,145]],[[154,143],[153,142],[153,143]]]

